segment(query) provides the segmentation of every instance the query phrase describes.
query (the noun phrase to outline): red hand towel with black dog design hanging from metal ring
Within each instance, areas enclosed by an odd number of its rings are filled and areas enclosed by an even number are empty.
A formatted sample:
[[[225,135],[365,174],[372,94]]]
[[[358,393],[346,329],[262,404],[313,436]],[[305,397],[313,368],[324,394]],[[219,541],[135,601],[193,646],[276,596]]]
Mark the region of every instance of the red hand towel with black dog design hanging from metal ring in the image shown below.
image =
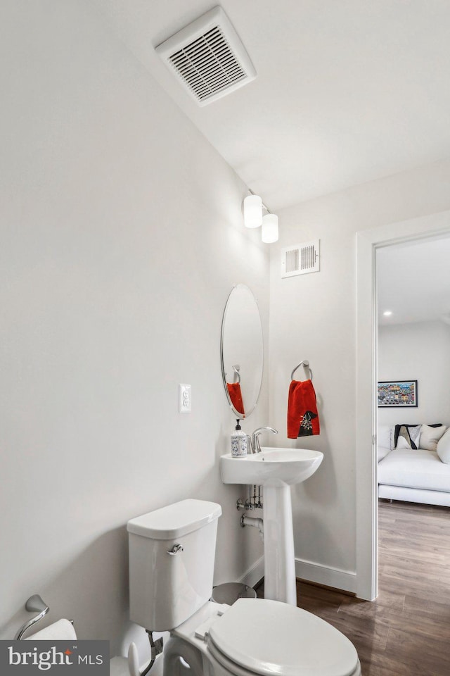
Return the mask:
[[[293,380],[289,386],[288,439],[320,433],[316,392],[311,380]]]

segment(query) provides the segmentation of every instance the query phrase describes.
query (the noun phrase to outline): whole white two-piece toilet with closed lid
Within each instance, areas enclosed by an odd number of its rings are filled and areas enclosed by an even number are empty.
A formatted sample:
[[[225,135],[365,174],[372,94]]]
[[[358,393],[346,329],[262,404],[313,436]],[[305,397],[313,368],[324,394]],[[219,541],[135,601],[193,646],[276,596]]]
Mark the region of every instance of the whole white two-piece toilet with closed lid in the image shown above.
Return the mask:
[[[269,599],[210,601],[220,515],[189,499],[127,524],[130,619],[170,632],[164,676],[361,676],[351,641],[316,615]]]

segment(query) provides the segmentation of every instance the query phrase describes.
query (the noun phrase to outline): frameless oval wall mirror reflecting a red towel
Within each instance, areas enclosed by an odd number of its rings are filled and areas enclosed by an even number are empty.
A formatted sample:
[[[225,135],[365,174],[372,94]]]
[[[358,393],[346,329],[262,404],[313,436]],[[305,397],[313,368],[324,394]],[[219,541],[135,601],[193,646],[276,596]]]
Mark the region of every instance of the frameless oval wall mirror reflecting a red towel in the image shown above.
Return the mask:
[[[225,394],[236,418],[255,410],[262,383],[264,347],[255,296],[236,284],[226,301],[221,330],[221,368]]]

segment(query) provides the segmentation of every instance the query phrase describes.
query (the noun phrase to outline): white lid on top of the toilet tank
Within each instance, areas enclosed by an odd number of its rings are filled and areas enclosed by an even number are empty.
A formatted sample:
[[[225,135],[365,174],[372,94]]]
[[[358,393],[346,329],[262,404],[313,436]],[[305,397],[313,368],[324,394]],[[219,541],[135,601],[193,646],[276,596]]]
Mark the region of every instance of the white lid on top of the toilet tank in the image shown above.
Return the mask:
[[[221,506],[205,500],[181,500],[127,523],[127,531],[157,540],[170,540],[207,525],[219,518]]]

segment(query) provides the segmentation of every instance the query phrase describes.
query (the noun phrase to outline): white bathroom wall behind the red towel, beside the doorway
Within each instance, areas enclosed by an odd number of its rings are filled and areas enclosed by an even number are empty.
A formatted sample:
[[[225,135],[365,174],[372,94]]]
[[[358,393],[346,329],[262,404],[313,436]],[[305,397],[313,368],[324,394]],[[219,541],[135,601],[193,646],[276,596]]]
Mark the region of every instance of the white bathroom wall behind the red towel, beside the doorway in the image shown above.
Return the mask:
[[[277,444],[325,456],[316,475],[293,489],[297,574],[310,579],[356,590],[356,453],[371,453],[370,442],[356,449],[356,232],[444,211],[449,187],[446,161],[279,214],[281,238],[271,246],[269,420],[284,431]],[[282,280],[281,249],[317,237],[321,271]],[[290,442],[288,385],[303,358],[314,373],[321,434]]]

